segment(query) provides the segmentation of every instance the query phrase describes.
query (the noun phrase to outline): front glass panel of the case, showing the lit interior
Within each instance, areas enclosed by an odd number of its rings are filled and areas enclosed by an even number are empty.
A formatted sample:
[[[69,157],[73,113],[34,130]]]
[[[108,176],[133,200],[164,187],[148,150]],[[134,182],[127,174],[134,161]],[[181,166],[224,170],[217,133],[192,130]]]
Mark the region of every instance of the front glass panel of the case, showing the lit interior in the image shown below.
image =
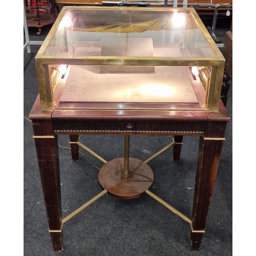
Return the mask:
[[[61,109],[205,109],[210,82],[208,67],[52,65],[50,74]]]

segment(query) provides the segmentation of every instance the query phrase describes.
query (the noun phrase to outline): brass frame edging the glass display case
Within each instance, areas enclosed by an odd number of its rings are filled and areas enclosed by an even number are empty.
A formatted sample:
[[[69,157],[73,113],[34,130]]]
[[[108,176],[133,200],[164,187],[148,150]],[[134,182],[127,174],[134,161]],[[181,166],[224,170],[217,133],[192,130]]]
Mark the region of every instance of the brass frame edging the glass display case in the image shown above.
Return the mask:
[[[63,7],[60,11],[55,23],[53,24],[48,36],[41,45],[36,57],[35,65],[37,71],[38,89],[40,95],[40,103],[42,110],[54,109],[53,89],[49,77],[48,65],[114,65],[114,66],[206,66],[212,67],[209,93],[207,95],[206,108],[207,111],[218,112],[219,100],[221,94],[222,77],[224,73],[225,58],[217,47],[215,41],[205,28],[202,20],[194,8],[182,8],[183,11],[190,11],[200,26],[205,38],[209,42],[211,49],[216,57],[123,57],[123,56],[47,56],[44,55],[50,41],[53,39],[62,17],[67,9],[91,9],[91,10],[125,10],[127,7]],[[141,10],[138,7],[129,7],[132,10]],[[151,8],[148,7],[143,11],[178,11],[180,8]]]

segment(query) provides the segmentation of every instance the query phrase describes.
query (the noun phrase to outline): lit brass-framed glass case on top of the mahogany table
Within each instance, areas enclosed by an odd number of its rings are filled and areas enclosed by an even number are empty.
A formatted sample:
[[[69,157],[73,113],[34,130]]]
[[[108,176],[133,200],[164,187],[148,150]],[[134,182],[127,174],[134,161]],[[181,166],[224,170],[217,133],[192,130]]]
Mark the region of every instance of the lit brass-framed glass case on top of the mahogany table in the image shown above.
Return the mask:
[[[194,8],[63,7],[35,61],[42,110],[219,109],[225,59]]]

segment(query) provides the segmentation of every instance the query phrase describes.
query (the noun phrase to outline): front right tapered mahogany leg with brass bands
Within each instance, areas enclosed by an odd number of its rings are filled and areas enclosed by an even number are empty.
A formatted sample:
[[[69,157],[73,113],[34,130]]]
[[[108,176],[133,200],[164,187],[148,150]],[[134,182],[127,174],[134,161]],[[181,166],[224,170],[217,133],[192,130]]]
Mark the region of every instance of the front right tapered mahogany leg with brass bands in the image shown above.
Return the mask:
[[[190,233],[191,250],[199,250],[203,238],[224,141],[225,125],[225,123],[209,123],[206,127],[205,136],[200,137]]]

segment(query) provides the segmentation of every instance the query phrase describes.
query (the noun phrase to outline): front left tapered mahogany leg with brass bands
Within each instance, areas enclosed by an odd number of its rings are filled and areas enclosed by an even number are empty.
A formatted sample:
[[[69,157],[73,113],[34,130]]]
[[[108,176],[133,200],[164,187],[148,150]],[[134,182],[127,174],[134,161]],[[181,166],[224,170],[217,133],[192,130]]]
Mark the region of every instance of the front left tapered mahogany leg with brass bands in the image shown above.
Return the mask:
[[[42,191],[54,251],[62,250],[58,138],[51,120],[32,120]]]

